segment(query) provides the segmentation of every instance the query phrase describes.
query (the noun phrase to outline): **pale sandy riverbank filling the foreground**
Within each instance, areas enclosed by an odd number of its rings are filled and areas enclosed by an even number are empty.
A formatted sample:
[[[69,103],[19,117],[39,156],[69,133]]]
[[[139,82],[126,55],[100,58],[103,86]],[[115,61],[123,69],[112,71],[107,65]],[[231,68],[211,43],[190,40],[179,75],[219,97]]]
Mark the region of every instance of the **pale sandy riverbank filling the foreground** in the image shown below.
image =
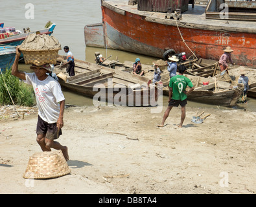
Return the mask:
[[[0,120],[0,193],[256,193],[255,117],[242,110],[69,107],[59,142],[71,173],[28,186],[22,175],[36,143],[37,114]],[[196,111],[210,113],[193,124]]]

